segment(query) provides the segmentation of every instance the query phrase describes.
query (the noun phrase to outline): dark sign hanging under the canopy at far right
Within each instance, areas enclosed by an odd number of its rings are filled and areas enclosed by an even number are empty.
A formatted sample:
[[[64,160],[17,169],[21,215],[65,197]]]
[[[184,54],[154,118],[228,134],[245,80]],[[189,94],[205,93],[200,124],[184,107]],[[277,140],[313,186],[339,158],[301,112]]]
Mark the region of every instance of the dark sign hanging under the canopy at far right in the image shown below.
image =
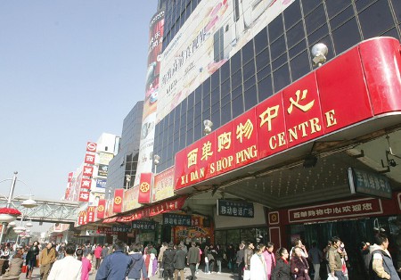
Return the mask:
[[[381,174],[349,168],[348,181],[351,194],[367,194],[391,199],[389,178]]]

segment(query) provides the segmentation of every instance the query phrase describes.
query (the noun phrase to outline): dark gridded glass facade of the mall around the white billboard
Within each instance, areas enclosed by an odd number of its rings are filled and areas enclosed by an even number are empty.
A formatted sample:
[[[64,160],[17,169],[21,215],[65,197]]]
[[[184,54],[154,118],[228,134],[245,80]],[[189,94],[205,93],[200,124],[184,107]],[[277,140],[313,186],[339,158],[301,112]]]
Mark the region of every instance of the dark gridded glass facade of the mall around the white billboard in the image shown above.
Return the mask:
[[[199,2],[166,4],[163,48]],[[316,43],[328,46],[331,60],[371,37],[400,39],[400,26],[399,0],[296,0],[160,120],[158,169],[173,166],[176,152],[201,138],[204,119],[219,128],[313,70]]]

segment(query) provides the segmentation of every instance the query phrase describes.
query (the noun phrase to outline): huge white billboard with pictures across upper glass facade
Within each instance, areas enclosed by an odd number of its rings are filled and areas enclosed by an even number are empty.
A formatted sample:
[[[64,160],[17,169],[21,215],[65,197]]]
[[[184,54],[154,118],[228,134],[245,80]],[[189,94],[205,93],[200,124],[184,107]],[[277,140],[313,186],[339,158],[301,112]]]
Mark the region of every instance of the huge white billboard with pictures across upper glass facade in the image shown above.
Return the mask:
[[[201,1],[162,54],[156,123],[293,1]]]

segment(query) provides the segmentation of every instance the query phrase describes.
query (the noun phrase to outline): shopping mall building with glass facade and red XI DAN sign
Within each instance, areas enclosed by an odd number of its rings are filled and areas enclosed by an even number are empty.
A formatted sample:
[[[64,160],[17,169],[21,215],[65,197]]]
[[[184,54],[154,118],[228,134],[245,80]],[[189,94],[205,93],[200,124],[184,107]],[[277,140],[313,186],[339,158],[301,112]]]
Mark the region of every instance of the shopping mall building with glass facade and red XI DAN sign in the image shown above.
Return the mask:
[[[131,226],[128,242],[276,248],[337,235],[354,273],[377,227],[401,261],[401,2],[159,8],[135,183],[102,226]]]

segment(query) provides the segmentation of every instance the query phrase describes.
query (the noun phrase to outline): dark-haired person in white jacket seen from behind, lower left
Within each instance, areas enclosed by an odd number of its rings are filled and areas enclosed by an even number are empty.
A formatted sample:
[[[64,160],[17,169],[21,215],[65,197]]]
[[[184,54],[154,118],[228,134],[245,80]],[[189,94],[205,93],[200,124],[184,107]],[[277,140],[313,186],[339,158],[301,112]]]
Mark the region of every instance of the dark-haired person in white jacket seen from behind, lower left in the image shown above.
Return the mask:
[[[81,280],[82,262],[74,258],[76,246],[68,243],[65,257],[54,262],[48,280]]]

